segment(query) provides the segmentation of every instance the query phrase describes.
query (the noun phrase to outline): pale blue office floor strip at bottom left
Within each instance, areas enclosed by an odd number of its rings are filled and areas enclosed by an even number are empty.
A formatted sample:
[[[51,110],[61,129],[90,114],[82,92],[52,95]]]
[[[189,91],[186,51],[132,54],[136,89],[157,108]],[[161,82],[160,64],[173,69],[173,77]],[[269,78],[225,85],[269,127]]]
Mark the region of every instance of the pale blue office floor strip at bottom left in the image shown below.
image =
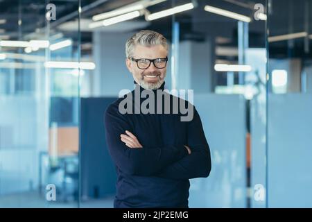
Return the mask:
[[[113,197],[97,200],[84,200],[80,203],[80,208],[112,208]],[[42,195],[35,191],[19,194],[9,194],[0,196],[0,208],[77,208],[77,201],[60,202],[46,201]]]

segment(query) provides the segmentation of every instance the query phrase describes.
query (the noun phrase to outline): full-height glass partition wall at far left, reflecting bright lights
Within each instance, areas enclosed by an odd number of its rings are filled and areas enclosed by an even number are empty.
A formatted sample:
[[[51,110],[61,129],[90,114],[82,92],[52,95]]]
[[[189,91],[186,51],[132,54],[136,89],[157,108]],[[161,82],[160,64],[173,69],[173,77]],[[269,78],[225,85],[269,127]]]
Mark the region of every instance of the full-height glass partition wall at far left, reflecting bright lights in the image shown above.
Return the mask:
[[[0,207],[78,207],[78,7],[0,2]]]

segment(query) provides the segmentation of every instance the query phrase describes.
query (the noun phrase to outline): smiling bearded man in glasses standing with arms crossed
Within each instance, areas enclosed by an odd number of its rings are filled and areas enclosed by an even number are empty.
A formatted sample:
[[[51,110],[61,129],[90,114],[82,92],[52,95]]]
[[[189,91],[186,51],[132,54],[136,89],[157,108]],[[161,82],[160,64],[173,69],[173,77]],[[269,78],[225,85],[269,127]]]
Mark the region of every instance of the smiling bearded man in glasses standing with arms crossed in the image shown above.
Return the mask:
[[[126,42],[125,54],[135,90],[159,99],[156,92],[164,90],[168,60],[166,38],[155,31],[140,31]],[[137,103],[135,90],[125,95],[130,111],[146,101]],[[193,119],[181,121],[182,113],[172,112],[177,97],[169,95],[169,114],[121,112],[125,98],[105,112],[107,146],[118,175],[114,207],[188,207],[189,179],[209,176],[209,145],[198,112],[194,108]],[[163,111],[168,103],[153,105]]]

